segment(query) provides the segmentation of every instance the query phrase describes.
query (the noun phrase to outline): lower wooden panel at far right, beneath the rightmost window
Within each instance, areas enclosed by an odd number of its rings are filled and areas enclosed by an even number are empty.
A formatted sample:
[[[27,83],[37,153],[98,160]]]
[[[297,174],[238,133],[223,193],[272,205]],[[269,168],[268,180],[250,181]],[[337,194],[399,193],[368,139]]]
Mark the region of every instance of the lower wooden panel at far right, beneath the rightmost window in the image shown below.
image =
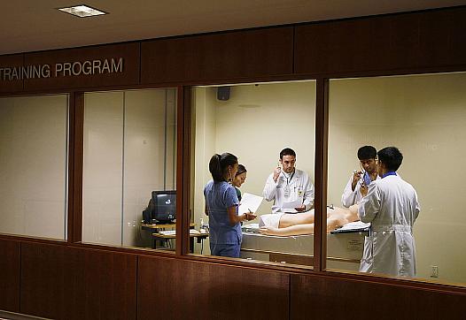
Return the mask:
[[[466,293],[440,293],[349,279],[291,275],[295,319],[464,319]]]

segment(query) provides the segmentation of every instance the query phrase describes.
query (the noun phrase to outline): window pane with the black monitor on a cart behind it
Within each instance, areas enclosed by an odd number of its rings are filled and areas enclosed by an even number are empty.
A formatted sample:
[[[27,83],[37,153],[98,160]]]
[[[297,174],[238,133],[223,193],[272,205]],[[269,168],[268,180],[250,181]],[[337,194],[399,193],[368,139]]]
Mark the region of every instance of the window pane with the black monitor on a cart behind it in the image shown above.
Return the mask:
[[[175,151],[175,89],[86,93],[82,240],[174,249]]]

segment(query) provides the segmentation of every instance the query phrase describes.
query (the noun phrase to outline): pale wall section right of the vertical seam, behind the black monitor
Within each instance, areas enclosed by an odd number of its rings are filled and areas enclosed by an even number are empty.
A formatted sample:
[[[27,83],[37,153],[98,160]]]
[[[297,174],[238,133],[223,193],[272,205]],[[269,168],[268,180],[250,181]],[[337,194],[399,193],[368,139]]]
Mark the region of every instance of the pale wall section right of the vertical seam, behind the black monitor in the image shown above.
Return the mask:
[[[141,212],[152,190],[176,189],[175,94],[173,89],[125,94],[124,246],[150,245],[150,232],[140,228]]]

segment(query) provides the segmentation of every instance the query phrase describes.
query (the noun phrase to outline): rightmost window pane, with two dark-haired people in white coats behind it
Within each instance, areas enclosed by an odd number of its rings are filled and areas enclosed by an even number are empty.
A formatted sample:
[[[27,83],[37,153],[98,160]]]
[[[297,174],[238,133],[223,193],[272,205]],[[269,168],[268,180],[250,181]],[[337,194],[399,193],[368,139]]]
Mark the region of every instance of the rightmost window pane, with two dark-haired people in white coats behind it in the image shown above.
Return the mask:
[[[364,270],[466,283],[466,245],[462,241],[466,235],[462,220],[465,104],[466,73],[330,81],[330,203],[343,207],[361,201],[356,193],[352,195],[353,171],[356,175],[367,171],[370,176],[376,170],[378,176],[384,176],[372,181],[377,178],[372,175],[366,182],[369,195],[359,204],[360,213],[361,206],[364,208],[363,219],[372,221]],[[393,168],[388,164],[392,157],[387,156],[387,149],[382,157],[379,153],[373,166],[373,156],[358,158],[363,146],[380,152],[385,147],[400,149],[403,159],[397,176],[389,174]],[[414,195],[401,180],[416,190],[421,208],[417,218]],[[356,177],[355,181],[361,186],[362,179]],[[351,190],[342,203],[348,186]],[[359,270],[363,235],[328,234],[328,267]],[[330,247],[332,242],[337,242],[338,248]]]

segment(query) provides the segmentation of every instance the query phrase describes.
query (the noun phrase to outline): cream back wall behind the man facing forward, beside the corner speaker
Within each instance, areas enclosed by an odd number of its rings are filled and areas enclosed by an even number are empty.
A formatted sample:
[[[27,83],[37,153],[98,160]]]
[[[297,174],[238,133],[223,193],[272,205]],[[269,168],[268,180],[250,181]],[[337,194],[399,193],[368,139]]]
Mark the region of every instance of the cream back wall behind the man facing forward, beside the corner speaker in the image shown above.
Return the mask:
[[[217,101],[216,109],[215,149],[233,153],[245,165],[243,193],[262,194],[286,147],[296,151],[296,167],[314,179],[314,81],[233,87],[230,99]],[[271,207],[267,202],[260,213]]]

